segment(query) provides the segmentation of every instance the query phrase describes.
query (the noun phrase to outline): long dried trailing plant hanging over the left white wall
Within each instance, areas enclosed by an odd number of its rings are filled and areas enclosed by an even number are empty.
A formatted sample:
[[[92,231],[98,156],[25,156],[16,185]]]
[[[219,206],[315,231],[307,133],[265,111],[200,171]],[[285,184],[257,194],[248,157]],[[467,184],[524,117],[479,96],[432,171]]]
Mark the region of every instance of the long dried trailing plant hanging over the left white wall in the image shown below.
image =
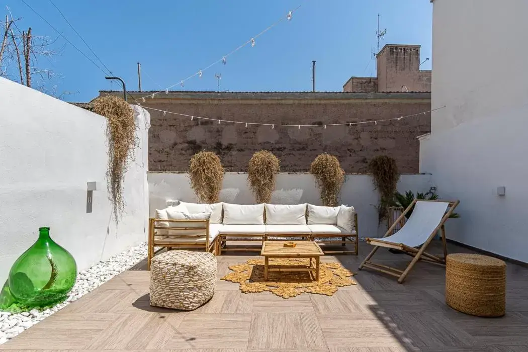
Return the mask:
[[[112,203],[116,223],[125,208],[123,182],[139,145],[136,135],[134,110],[121,98],[106,96],[93,101],[93,111],[107,119],[108,139],[108,197]]]

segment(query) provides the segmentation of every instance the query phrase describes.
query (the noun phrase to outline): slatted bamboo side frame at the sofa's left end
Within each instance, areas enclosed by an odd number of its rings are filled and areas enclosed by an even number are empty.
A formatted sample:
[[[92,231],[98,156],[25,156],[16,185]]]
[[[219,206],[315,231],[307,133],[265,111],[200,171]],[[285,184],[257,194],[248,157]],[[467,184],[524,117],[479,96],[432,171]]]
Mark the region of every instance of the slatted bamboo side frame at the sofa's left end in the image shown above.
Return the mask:
[[[169,227],[157,226],[156,222],[169,223]],[[194,225],[194,226],[191,226]],[[156,230],[176,230],[176,231],[203,231],[199,234],[156,234]],[[161,237],[156,240],[156,237]],[[204,242],[196,243],[196,239],[205,237]],[[218,237],[218,236],[217,236]],[[209,219],[205,220],[172,220],[172,219],[156,219],[149,218],[148,220],[148,254],[147,254],[147,270],[150,270],[150,263],[152,258],[157,253],[163,251],[163,249],[172,250],[173,248],[177,249],[203,249],[205,252],[216,253],[216,244],[218,238],[215,238],[213,241],[209,239]],[[188,240],[185,242],[185,240]],[[157,251],[156,247],[161,247]]]

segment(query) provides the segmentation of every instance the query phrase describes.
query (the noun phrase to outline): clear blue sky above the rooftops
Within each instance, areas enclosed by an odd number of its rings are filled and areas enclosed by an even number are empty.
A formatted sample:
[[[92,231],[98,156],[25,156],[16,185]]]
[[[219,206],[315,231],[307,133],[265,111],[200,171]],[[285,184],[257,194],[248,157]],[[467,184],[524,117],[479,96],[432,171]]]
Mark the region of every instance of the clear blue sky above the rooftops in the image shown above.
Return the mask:
[[[49,0],[25,0],[93,61],[77,34]],[[316,90],[341,91],[352,75],[375,75],[377,16],[387,28],[383,44],[420,44],[421,60],[431,56],[432,5],[426,0],[52,0],[90,44],[106,66],[137,90],[137,62],[142,64],[143,90],[161,90],[221,59],[252,36],[302,5],[290,22],[283,21],[219,63],[179,84],[175,90],[309,91],[312,60]],[[8,0],[18,26],[34,35],[58,36],[20,0]],[[63,49],[39,68],[60,78],[53,84],[67,101],[89,101],[99,90],[118,89],[95,65],[64,39]],[[430,69],[431,61],[421,69]]]

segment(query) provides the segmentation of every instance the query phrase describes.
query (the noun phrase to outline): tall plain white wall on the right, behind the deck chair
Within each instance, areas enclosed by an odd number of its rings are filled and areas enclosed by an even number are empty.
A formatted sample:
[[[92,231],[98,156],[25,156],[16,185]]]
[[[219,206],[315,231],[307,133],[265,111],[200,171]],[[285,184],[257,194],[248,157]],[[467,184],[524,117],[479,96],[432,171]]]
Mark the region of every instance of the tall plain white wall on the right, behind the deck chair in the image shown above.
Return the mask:
[[[433,2],[431,135],[420,172],[460,199],[448,238],[528,262],[528,30],[524,0]],[[498,196],[498,186],[506,195]]]

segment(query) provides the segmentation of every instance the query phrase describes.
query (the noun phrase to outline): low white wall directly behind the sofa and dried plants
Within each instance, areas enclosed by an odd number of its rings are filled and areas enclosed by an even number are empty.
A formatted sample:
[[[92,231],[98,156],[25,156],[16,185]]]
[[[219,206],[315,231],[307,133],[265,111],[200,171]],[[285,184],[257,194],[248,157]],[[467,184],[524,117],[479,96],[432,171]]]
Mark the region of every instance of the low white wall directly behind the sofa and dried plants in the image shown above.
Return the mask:
[[[398,191],[427,192],[430,188],[431,175],[402,175]],[[185,173],[149,172],[148,187],[150,194],[150,216],[155,216],[156,209],[166,207],[168,200],[197,202]],[[320,205],[319,191],[310,174],[277,175],[276,191],[271,196],[271,203],[299,204],[311,203]],[[357,211],[359,235],[376,237],[387,230],[386,224],[378,229],[378,191],[374,190],[372,178],[367,175],[346,175],[341,190],[343,204],[354,206]],[[254,204],[255,200],[247,182],[245,173],[226,173],[220,192],[220,201],[235,204]]]

